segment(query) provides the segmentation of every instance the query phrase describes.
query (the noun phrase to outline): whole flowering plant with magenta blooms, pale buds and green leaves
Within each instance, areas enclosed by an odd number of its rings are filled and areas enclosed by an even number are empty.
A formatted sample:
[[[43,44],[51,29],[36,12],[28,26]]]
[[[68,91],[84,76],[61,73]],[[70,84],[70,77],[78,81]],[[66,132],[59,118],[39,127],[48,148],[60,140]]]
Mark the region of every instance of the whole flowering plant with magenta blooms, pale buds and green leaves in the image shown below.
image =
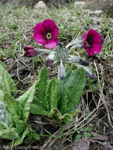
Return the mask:
[[[88,78],[96,78],[88,67],[89,62],[79,56],[72,55],[72,50],[84,48],[90,56],[101,51],[101,36],[91,29],[66,46],[58,42],[59,29],[53,20],[45,20],[34,27],[34,40],[47,49],[24,47],[24,56],[34,57],[48,54],[45,66],[58,66],[58,79],[49,79],[47,68],[43,68],[37,79],[38,93],[31,104],[31,113],[43,115],[56,121],[69,122],[80,110],[76,105],[83,94]],[[65,64],[74,64],[77,69],[65,69]]]

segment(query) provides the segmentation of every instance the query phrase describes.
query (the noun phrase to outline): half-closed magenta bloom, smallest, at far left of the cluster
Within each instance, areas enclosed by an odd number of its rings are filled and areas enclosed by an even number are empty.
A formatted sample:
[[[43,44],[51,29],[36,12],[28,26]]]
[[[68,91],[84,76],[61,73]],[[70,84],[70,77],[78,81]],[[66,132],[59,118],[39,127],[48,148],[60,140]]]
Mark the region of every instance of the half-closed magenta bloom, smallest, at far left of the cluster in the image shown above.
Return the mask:
[[[26,51],[24,57],[34,57],[38,55],[38,52],[34,50],[33,47],[24,47],[24,50]]]

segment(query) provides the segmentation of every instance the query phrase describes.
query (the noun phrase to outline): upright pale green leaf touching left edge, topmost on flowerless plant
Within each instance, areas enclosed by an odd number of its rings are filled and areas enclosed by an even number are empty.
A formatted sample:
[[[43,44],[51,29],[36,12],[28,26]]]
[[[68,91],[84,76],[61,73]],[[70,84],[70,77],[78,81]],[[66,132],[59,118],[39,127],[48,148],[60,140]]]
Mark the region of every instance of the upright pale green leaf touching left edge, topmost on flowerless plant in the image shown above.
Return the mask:
[[[16,86],[10,75],[5,69],[5,66],[0,62],[0,88],[3,92],[7,92],[8,94],[15,94],[13,91],[16,90]]]

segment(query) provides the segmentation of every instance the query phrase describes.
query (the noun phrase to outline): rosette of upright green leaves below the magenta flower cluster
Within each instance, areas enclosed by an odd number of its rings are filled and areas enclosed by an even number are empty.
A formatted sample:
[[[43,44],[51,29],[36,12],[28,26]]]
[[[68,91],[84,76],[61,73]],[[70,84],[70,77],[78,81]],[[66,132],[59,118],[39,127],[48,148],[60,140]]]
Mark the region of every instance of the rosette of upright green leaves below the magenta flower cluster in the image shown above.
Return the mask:
[[[76,108],[86,84],[83,68],[67,70],[66,77],[49,80],[47,68],[42,68],[38,75],[36,93],[31,103],[30,112],[51,119],[70,122],[80,110]]]

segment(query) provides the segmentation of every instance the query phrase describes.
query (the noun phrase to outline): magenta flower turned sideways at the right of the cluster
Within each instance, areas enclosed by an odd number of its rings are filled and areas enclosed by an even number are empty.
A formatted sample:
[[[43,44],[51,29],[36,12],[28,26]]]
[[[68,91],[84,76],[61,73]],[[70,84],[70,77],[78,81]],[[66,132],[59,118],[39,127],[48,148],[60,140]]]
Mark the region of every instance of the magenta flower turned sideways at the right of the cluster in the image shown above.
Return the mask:
[[[83,46],[90,56],[98,54],[101,51],[100,34],[93,29],[83,34]]]

